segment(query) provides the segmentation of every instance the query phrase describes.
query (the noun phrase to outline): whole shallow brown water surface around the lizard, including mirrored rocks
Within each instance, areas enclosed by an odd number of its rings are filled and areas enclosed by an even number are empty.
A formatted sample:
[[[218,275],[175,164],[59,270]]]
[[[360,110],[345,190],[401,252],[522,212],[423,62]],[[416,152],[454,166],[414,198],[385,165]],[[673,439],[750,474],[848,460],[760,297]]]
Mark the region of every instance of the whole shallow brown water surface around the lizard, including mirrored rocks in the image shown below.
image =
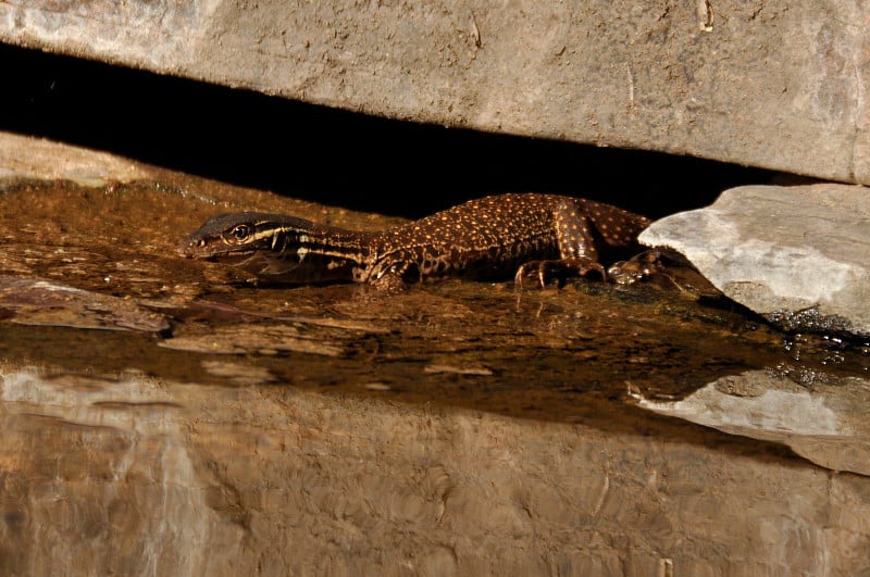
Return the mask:
[[[0,184],[1,573],[870,570],[866,343],[670,281],[257,286],[178,240],[403,221],[139,168]]]

